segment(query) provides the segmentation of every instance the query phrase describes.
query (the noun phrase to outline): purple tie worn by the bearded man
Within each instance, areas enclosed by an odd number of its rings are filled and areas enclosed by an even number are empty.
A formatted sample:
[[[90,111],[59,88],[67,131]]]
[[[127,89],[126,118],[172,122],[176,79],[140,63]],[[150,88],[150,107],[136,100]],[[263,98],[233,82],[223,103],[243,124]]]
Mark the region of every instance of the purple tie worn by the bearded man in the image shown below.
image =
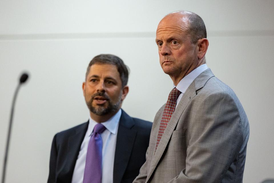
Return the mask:
[[[93,134],[88,143],[86,152],[86,166],[84,171],[83,183],[101,183],[102,182],[102,148],[103,141],[100,136],[106,127],[98,123],[95,125]]]

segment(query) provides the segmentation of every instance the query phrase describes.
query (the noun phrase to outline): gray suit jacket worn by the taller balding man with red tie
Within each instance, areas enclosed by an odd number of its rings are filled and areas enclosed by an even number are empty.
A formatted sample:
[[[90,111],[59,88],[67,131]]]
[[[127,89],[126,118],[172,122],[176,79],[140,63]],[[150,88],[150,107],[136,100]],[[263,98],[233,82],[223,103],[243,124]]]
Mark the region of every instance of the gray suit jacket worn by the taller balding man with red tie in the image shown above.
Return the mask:
[[[237,96],[210,69],[188,87],[154,154],[164,106],[157,112],[137,182],[211,183],[243,179],[249,137]]]

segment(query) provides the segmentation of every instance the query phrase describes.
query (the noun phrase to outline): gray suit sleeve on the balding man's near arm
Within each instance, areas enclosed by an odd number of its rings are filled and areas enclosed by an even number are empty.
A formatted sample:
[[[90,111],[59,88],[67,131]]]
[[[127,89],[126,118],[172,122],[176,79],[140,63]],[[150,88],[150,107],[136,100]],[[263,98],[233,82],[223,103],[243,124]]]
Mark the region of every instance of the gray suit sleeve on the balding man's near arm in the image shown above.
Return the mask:
[[[211,94],[196,107],[188,122],[186,168],[170,182],[221,182],[243,143],[233,97],[225,92]]]

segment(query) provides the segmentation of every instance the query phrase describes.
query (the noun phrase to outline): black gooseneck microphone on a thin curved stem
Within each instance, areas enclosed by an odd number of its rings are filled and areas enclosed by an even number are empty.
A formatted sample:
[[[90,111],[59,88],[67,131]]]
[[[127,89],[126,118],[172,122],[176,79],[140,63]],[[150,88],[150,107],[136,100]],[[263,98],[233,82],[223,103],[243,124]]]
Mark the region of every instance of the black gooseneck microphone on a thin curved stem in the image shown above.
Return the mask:
[[[8,159],[8,152],[9,152],[9,141],[11,137],[11,126],[12,126],[12,119],[13,119],[13,112],[14,112],[14,106],[15,106],[15,101],[17,98],[17,94],[19,91],[19,88],[21,84],[25,83],[28,79],[29,75],[27,73],[23,73],[19,79],[19,83],[15,89],[15,93],[13,96],[12,100],[12,105],[11,105],[11,115],[10,115],[10,120],[9,120],[9,130],[8,130],[8,136],[7,136],[7,143],[6,143],[6,150],[5,150],[5,158],[4,158],[4,164],[3,164],[3,173],[2,173],[2,183],[5,183],[5,175],[6,175],[6,167],[7,167],[7,159]]]

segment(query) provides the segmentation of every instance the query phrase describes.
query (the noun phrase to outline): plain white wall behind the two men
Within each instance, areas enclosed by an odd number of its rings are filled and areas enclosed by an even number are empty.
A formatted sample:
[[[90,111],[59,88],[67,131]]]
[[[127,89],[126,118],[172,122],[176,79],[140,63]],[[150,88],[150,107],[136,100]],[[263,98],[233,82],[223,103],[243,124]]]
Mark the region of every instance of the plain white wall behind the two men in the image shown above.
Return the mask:
[[[21,71],[6,182],[46,182],[56,132],[88,119],[82,81],[100,53],[130,67],[123,109],[153,121],[172,81],[158,63],[155,31],[164,15],[190,10],[205,21],[207,64],[233,88],[250,123],[244,182],[274,178],[274,1],[0,1],[0,164]],[[1,169],[2,170],[2,169]]]

